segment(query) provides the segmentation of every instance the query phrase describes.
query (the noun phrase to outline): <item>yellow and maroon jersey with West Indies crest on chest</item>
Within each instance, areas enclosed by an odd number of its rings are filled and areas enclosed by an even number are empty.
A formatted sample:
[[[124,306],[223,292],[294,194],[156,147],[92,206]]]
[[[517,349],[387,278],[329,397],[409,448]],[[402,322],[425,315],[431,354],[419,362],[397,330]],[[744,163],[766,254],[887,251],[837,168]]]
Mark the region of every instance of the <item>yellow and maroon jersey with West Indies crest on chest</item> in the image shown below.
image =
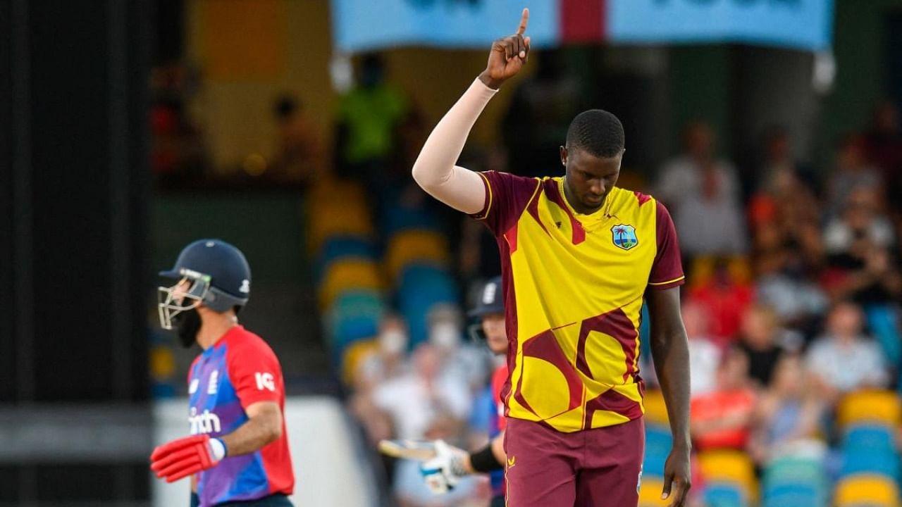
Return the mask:
[[[602,209],[581,215],[563,178],[479,174],[487,198],[474,217],[502,254],[505,415],[565,432],[639,418],[642,300],[647,288],[684,281],[667,208],[614,188]]]

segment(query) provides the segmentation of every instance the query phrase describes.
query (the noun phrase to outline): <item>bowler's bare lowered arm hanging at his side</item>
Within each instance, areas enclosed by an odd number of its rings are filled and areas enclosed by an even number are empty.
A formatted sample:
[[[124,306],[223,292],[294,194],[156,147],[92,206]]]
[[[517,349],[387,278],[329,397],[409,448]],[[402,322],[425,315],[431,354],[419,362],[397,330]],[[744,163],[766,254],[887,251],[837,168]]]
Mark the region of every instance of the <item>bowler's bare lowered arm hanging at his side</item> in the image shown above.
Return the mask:
[[[680,314],[679,287],[646,293],[651,318],[651,355],[658,382],[667,404],[673,433],[673,448],[664,467],[662,498],[672,498],[670,507],[686,504],[692,486],[689,455],[689,341]]]

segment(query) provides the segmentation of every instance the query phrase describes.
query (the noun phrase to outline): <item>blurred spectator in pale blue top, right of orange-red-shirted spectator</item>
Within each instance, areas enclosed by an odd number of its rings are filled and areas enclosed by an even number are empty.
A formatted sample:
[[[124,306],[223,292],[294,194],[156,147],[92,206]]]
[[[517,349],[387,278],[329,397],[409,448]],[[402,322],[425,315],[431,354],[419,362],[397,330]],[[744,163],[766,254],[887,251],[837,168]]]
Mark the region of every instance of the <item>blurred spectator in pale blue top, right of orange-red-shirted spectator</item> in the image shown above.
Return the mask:
[[[800,444],[817,441],[824,403],[807,383],[801,357],[782,355],[774,368],[773,382],[761,394],[755,409],[749,452],[759,466],[792,453]]]

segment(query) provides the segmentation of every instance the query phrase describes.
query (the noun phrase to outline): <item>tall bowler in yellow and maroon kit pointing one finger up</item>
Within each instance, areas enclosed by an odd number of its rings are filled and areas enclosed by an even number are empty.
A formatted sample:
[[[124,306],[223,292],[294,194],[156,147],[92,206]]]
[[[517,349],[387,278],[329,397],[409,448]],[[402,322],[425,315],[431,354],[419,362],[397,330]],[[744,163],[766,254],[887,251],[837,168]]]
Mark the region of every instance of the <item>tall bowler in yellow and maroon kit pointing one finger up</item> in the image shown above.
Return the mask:
[[[689,355],[673,221],[655,198],[616,187],[616,116],[576,115],[560,147],[565,176],[522,178],[456,166],[476,118],[529,56],[529,11],[492,43],[486,69],[436,125],[413,167],[419,186],[496,236],[510,375],[503,393],[512,507],[639,502],[644,451],[640,308],[673,433],[663,498],[690,487]]]

